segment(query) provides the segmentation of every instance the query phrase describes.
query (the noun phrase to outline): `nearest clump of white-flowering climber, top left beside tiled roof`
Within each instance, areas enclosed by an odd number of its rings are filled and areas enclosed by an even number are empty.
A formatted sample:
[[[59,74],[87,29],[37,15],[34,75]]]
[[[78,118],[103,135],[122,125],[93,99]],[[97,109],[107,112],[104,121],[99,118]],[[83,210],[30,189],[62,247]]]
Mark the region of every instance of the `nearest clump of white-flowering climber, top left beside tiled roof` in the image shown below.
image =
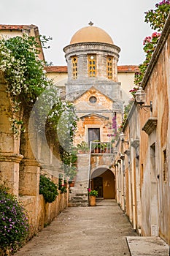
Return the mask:
[[[51,81],[45,74],[44,61],[39,59],[40,44],[35,37],[3,37],[0,40],[0,69],[4,72],[7,92],[12,99],[12,131],[19,135],[23,121],[20,120],[22,106],[31,108],[36,98]]]

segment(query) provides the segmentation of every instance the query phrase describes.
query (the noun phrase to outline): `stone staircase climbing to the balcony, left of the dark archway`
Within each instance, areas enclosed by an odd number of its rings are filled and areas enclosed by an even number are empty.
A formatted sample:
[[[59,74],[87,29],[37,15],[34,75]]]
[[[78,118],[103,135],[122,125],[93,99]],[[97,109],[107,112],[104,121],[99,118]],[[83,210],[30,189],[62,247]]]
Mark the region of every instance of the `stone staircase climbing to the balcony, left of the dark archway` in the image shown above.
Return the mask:
[[[77,155],[77,177],[70,187],[69,206],[88,206],[88,170],[90,154]]]

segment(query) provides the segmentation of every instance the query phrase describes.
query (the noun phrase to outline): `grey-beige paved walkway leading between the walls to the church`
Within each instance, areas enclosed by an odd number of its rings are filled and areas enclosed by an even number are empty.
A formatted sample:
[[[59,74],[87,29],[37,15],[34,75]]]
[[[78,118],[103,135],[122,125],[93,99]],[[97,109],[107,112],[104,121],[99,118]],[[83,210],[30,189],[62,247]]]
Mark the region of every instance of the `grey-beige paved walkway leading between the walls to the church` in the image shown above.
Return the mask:
[[[130,255],[126,236],[137,236],[115,200],[66,208],[15,256]]]

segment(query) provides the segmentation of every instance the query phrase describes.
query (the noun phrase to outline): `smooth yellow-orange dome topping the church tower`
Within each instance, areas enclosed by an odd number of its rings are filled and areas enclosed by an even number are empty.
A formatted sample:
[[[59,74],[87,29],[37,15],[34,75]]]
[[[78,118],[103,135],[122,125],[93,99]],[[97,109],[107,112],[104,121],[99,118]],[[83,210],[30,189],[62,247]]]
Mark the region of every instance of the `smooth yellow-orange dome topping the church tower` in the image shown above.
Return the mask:
[[[113,45],[112,38],[103,29],[96,26],[85,26],[78,30],[70,41],[70,45],[78,42],[105,42]]]

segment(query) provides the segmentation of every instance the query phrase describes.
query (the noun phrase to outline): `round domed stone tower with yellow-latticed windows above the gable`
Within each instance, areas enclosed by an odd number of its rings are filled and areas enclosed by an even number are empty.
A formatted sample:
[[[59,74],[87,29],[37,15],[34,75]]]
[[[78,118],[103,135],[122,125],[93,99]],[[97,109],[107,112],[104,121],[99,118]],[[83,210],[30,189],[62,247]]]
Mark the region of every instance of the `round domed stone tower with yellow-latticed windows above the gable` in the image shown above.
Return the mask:
[[[121,100],[117,81],[120,48],[106,31],[92,25],[77,31],[63,48],[68,65],[66,97],[74,100],[94,86],[111,99]]]

